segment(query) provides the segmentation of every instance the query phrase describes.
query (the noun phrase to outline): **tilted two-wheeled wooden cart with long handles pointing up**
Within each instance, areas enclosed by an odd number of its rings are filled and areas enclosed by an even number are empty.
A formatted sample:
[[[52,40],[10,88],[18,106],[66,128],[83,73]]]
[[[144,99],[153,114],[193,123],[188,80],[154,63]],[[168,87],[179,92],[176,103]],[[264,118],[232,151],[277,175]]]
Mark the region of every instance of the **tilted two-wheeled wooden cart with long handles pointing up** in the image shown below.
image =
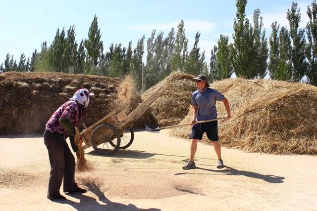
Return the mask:
[[[125,111],[120,113],[113,111],[97,123],[85,128],[79,133],[85,143],[83,150],[92,146],[99,154],[111,155],[119,148],[129,147],[134,139],[134,132],[129,125],[137,121],[166,88],[158,88],[128,116]]]

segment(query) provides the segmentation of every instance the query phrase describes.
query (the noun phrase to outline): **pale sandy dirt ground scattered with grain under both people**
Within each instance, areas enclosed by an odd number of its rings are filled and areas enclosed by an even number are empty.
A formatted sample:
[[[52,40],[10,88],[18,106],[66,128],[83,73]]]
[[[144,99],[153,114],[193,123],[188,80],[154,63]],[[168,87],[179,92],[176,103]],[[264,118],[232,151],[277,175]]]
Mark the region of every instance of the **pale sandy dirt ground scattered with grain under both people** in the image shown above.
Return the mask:
[[[67,141],[68,142],[68,141]],[[199,144],[197,169],[183,170],[190,142],[135,132],[133,144],[111,156],[92,148],[95,170],[76,173],[88,193],[46,198],[50,172],[42,135],[0,137],[0,210],[317,210],[317,157],[244,153]],[[62,193],[62,187],[61,187]]]

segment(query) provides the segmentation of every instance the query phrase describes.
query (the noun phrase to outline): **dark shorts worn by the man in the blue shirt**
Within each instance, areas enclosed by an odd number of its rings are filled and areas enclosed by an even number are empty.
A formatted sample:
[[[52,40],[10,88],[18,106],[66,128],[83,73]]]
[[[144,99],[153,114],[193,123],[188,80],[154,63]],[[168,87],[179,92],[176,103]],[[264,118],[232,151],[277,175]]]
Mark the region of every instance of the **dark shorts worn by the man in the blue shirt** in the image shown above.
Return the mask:
[[[192,128],[192,133],[190,134],[190,138],[202,140],[204,132],[206,132],[209,140],[217,141],[218,121],[194,125]]]

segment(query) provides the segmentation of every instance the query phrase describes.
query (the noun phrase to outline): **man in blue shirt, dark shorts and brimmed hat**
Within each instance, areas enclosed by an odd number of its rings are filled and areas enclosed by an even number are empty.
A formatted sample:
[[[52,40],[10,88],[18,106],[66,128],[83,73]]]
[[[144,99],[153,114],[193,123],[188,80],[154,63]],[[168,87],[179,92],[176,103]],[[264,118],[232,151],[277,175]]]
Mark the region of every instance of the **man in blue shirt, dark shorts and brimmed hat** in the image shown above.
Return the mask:
[[[208,122],[202,124],[195,124],[197,121],[211,120],[217,118],[216,101],[222,101],[226,109],[226,119],[231,117],[230,107],[228,100],[218,91],[209,88],[208,79],[204,75],[198,75],[196,80],[196,87],[198,88],[192,94],[191,105],[193,106],[193,120],[191,121],[192,133],[190,137],[192,138],[192,143],[190,147],[190,159],[183,167],[183,169],[195,169],[196,165],[194,162],[194,157],[197,151],[197,142],[203,138],[203,134],[206,132],[209,140],[212,141],[214,151],[217,154],[218,162],[217,168],[223,168],[223,161],[221,159],[221,147],[218,143],[218,122]]]

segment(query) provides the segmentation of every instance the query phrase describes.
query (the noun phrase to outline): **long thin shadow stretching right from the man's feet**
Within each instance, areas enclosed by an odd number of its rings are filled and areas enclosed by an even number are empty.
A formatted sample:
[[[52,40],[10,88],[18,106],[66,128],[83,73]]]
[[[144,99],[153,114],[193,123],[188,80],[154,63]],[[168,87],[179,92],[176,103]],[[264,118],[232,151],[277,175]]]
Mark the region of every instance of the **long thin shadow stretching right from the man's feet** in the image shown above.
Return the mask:
[[[284,182],[283,179],[285,179],[285,177],[282,177],[282,176],[275,176],[275,175],[271,175],[271,174],[264,175],[264,174],[256,173],[256,172],[252,172],[252,171],[238,170],[238,169],[234,169],[234,168],[231,168],[228,166],[225,166],[224,168],[226,168],[226,169],[213,170],[213,169],[205,169],[205,168],[200,168],[200,167],[197,167],[196,169],[202,169],[202,170],[207,170],[207,171],[211,171],[211,172],[223,173],[225,175],[243,175],[243,176],[252,177],[252,178],[256,178],[256,179],[263,179],[265,182],[269,182],[269,183],[283,183]],[[175,175],[181,175],[181,174],[186,174],[186,173],[176,173]]]

